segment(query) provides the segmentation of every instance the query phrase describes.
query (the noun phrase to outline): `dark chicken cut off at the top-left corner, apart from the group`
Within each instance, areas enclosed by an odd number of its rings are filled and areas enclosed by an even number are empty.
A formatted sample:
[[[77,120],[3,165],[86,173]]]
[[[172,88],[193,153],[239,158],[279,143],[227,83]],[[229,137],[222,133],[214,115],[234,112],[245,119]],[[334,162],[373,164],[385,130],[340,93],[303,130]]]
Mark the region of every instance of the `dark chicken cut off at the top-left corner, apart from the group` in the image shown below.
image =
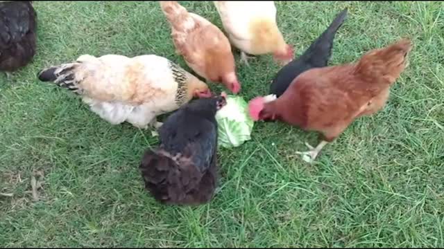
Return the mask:
[[[31,62],[36,19],[31,1],[0,1],[0,71],[8,75]]]

